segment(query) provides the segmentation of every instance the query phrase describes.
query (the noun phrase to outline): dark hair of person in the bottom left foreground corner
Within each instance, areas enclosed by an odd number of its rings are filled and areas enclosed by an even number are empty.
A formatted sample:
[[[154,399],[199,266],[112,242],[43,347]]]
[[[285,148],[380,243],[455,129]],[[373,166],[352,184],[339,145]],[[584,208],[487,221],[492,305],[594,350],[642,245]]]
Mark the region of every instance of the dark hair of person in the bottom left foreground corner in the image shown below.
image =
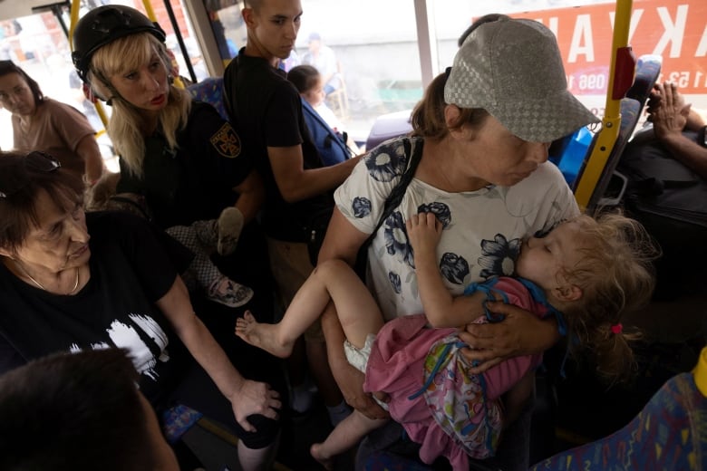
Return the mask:
[[[0,377],[0,469],[152,469],[127,351],[54,354]]]

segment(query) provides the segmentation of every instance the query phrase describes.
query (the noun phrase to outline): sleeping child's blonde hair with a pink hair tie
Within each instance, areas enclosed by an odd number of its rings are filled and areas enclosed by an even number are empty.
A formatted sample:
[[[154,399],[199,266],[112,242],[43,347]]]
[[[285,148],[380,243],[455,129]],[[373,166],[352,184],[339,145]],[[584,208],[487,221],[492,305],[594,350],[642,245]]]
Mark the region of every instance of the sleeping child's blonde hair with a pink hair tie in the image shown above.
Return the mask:
[[[655,285],[652,262],[660,248],[644,226],[620,211],[573,221],[582,226],[582,255],[562,274],[583,295],[578,303],[563,306],[567,330],[576,340],[569,341],[569,349],[591,351],[605,379],[626,380],[634,367],[630,342],[641,335],[624,332],[621,321],[650,301]]]

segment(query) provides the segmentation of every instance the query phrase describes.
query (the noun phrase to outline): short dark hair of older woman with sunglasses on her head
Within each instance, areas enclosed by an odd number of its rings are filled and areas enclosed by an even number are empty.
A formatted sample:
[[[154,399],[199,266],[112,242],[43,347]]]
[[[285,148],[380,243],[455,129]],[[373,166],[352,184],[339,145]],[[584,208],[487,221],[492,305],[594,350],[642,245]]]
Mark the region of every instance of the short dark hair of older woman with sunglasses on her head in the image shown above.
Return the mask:
[[[57,204],[67,198],[70,202],[83,200],[85,185],[81,178],[64,168],[47,172],[27,167],[24,159],[24,152],[0,152],[0,191],[20,177],[27,181],[11,195],[0,197],[0,247],[7,250],[22,245],[32,227],[39,224],[36,204],[41,190]]]

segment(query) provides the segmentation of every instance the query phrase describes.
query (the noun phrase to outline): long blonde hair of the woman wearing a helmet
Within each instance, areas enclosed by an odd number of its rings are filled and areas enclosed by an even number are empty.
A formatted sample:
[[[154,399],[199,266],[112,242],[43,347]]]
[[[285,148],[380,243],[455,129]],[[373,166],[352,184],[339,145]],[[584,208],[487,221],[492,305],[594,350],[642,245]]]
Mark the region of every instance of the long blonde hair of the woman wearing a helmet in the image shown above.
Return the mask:
[[[88,72],[92,88],[106,100],[111,100],[113,112],[108,123],[108,134],[113,145],[131,174],[138,177],[142,176],[142,161],[145,158],[145,135],[140,129],[140,111],[121,99],[110,78],[137,69],[149,62],[153,53],[158,53],[169,72],[171,65],[165,46],[150,33],[131,34],[102,46],[93,53]],[[190,110],[189,92],[170,86],[167,106],[160,111],[158,127],[172,152],[179,147],[177,131],[187,125]]]

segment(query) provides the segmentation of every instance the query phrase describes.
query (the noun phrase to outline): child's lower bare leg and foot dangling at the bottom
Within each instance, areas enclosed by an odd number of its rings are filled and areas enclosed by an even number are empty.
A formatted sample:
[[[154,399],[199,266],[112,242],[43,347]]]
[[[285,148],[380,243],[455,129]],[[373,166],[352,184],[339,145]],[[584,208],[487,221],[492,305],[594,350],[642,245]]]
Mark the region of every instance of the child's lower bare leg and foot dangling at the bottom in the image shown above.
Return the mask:
[[[354,447],[359,440],[375,428],[382,427],[387,418],[367,418],[358,410],[337,425],[323,443],[315,443],[309,448],[312,457],[325,469],[334,469],[334,457]]]

